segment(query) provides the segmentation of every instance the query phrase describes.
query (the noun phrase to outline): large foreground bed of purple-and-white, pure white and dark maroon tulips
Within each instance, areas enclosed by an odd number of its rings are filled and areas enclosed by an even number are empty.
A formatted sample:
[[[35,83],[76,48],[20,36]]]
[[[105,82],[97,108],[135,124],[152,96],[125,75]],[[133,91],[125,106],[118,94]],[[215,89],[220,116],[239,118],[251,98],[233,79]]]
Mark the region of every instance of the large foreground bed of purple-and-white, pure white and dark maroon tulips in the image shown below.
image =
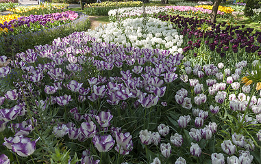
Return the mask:
[[[260,163],[260,46],[244,26],[143,12],[16,53],[0,163]]]

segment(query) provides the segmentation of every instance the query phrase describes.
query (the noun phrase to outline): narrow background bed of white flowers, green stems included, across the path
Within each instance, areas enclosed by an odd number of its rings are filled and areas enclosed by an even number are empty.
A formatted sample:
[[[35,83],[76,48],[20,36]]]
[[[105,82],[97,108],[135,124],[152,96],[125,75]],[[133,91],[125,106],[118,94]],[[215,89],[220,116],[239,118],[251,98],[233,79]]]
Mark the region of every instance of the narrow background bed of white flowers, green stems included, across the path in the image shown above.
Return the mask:
[[[126,18],[137,18],[142,16],[142,14],[146,14],[147,16],[153,16],[154,14],[158,14],[160,12],[166,12],[166,8],[162,7],[134,7],[134,8],[119,8],[110,10],[108,15],[110,16],[110,21],[115,22],[117,18],[123,20]]]

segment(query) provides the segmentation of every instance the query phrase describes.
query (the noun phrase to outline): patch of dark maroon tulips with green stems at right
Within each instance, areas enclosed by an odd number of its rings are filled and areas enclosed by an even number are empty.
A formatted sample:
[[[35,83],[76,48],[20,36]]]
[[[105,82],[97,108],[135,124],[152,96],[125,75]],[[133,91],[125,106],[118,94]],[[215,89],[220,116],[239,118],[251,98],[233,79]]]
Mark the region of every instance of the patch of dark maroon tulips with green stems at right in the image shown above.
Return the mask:
[[[261,32],[252,33],[253,29],[244,29],[244,25],[242,27],[232,27],[229,23],[214,25],[209,20],[171,15],[160,15],[158,18],[170,20],[174,27],[186,36],[184,52],[188,52],[191,59],[200,53],[208,53],[215,57],[210,60],[204,55],[204,59],[208,60],[206,62],[229,61],[235,64],[241,60],[259,59],[261,55]],[[199,58],[202,59],[202,56]]]

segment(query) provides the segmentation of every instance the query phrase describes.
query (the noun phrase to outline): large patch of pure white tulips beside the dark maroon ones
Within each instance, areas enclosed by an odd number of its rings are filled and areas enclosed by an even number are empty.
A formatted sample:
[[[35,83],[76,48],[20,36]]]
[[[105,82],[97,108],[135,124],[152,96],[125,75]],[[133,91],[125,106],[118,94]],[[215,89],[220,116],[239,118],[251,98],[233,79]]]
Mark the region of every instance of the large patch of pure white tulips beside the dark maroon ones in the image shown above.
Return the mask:
[[[97,42],[138,46],[139,48],[169,50],[171,54],[183,53],[180,46],[183,36],[179,36],[173,25],[158,18],[149,18],[146,25],[142,18],[125,19],[121,28],[117,23],[108,23],[95,30],[88,30],[86,35],[97,38]],[[142,28],[146,32],[142,32]]]

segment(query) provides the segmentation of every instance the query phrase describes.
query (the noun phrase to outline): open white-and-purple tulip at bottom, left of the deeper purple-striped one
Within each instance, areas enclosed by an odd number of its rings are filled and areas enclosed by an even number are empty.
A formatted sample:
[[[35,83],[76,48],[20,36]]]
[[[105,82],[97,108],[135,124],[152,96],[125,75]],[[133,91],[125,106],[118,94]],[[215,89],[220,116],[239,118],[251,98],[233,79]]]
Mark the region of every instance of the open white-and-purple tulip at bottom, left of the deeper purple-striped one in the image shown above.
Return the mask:
[[[92,138],[92,143],[99,152],[108,152],[114,146],[115,141],[112,139],[111,135],[95,135],[95,137]]]

